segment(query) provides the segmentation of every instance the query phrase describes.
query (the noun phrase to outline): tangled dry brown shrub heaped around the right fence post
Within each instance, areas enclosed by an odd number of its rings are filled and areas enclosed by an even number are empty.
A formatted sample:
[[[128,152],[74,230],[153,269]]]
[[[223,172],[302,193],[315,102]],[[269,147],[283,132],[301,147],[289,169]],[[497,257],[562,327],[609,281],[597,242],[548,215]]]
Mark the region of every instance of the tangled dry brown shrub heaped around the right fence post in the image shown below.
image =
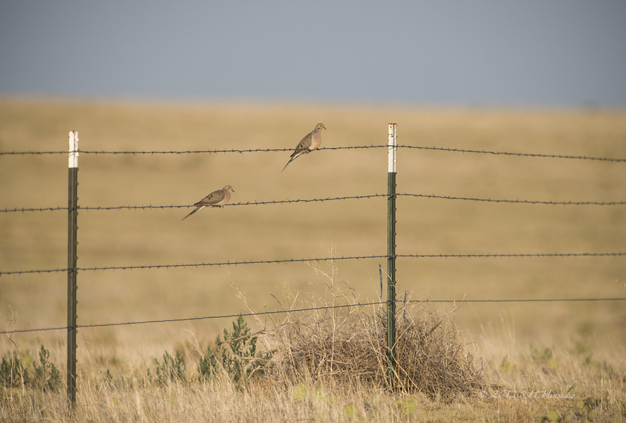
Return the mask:
[[[410,301],[396,311],[397,367],[391,386],[385,307],[360,302],[333,262],[328,273],[312,267],[329,282],[312,285],[307,292],[291,293],[286,288],[283,299],[276,298],[286,317],[263,331],[274,350],[274,370],[281,382],[297,384],[310,377],[343,386],[422,392],[443,400],[470,395],[484,386],[474,355],[467,354],[458,340],[455,310],[441,314],[432,304]]]

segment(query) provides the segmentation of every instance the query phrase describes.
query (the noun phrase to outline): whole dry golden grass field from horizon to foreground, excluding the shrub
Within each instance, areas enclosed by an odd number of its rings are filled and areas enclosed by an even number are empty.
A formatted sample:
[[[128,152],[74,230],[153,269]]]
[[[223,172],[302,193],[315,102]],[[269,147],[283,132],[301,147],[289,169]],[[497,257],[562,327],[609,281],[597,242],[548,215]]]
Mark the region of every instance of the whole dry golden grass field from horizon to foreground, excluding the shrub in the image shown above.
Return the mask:
[[[386,193],[383,148],[321,149],[300,157],[283,173],[289,152],[87,153],[293,149],[319,122],[328,128],[322,134],[322,147],[386,144],[387,124],[395,122],[400,145],[626,158],[626,111],[14,98],[0,99],[0,152],[66,151],[68,131],[77,130],[79,147],[85,151],[78,162],[80,207],[183,206],[224,185],[235,190],[231,203]],[[64,154],[0,156],[0,209],[66,207],[66,168]],[[397,190],[477,199],[624,202],[625,175],[624,162],[398,149]],[[397,207],[399,255],[626,251],[624,205],[401,196]],[[384,197],[231,205],[203,209],[181,221],[188,212],[187,208],[81,210],[78,266],[386,254]],[[62,210],[0,213],[0,271],[63,269],[66,252],[67,217]],[[294,295],[300,295],[302,304],[313,300],[329,304],[321,295],[329,286],[342,287],[353,302],[376,302],[379,264],[385,269],[383,259],[361,259],[336,260],[332,266],[296,262],[80,271],[78,323],[281,310]],[[405,292],[412,300],[626,297],[625,256],[422,257],[400,258],[397,266],[399,299]],[[65,326],[66,284],[63,272],[0,274],[2,330]],[[333,291],[331,302],[342,295]],[[463,354],[470,353],[474,364],[482,366],[480,387],[451,397],[443,391],[438,395],[392,392],[349,377],[343,382],[325,379],[310,369],[301,380],[257,378],[242,388],[225,378],[202,381],[197,375],[200,351],[213,345],[223,329],[232,328],[232,317],[104,326],[78,331],[75,418],[85,422],[626,421],[624,301],[430,305],[434,321],[441,317],[447,322],[434,332],[441,336],[438,339],[443,343],[446,333],[452,336],[450,345],[458,342]],[[428,309],[422,302],[406,307],[417,321]],[[376,309],[367,310],[355,321],[375,319]],[[329,316],[335,321],[335,314]],[[329,316],[322,313],[319,319]],[[252,332],[266,329],[259,340],[276,348],[285,346],[284,338],[273,331],[284,318],[279,314],[275,322],[264,315],[246,321]],[[294,317],[294,322],[306,318],[311,316]],[[347,331],[335,327],[331,333]],[[355,338],[359,333],[355,329]],[[64,375],[65,342],[64,331],[4,334],[0,355],[9,360],[17,353],[32,369],[31,362],[37,364],[44,345],[49,360]],[[154,375],[158,368],[154,359],[162,364],[164,353],[173,356],[176,351],[185,359],[187,380],[149,381],[148,372]],[[549,391],[552,396],[546,396]],[[554,396],[566,391],[567,398]],[[2,420],[68,420],[62,388],[42,391],[5,384],[0,393]],[[517,398],[503,398],[503,393]],[[528,398],[531,393],[534,398]]]

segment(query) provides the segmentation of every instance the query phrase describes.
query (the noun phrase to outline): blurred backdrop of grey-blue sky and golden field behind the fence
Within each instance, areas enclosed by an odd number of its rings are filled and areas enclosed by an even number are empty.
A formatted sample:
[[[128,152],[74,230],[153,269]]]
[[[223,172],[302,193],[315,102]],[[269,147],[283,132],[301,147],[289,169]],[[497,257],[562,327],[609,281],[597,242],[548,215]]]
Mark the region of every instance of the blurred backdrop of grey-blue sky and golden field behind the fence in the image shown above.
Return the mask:
[[[0,152],[288,149],[323,122],[322,147],[421,147],[626,158],[626,5],[602,1],[2,1]],[[386,149],[89,154],[81,207],[189,205],[386,193]],[[66,207],[64,154],[0,157],[0,209]],[[400,149],[398,192],[623,202],[624,162]],[[386,199],[204,209],[83,210],[78,266],[149,266],[386,254]],[[626,251],[623,205],[398,199],[398,254]],[[0,213],[0,271],[66,267],[66,213]],[[379,300],[383,259],[339,260]],[[321,262],[81,271],[79,324],[281,309],[285,286],[323,286]],[[398,259],[398,298],[625,297],[618,257]],[[0,275],[5,329],[66,324],[66,274]],[[384,299],[384,295],[383,295]],[[442,304],[452,309],[452,304]],[[81,329],[80,342],[173,348],[231,319]],[[623,302],[468,303],[475,339],[626,341]],[[494,328],[500,329],[494,329]],[[63,343],[63,331],[23,342]],[[54,341],[53,341],[54,340]],[[2,341],[8,344],[8,341]],[[85,345],[83,345],[84,347]],[[109,348],[109,347],[107,347]],[[80,350],[79,350],[80,351]],[[85,348],[82,348],[85,351]]]

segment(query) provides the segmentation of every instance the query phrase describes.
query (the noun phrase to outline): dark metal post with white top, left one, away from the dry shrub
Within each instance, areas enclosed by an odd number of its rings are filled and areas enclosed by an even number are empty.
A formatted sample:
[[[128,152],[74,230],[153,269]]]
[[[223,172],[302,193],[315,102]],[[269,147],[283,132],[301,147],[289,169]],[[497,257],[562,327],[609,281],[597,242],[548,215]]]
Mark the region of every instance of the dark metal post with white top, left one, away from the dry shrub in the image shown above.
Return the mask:
[[[76,405],[76,247],[78,246],[78,132],[70,132],[68,162],[68,402]]]

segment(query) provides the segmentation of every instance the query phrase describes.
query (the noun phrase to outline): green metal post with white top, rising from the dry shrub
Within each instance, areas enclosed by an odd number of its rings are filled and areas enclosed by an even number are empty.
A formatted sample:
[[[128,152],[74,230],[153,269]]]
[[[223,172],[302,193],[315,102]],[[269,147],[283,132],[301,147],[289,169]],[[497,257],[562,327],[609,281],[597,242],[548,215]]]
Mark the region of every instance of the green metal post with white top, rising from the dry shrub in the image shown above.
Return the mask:
[[[389,123],[387,173],[387,364],[389,384],[395,385],[395,123]]]

